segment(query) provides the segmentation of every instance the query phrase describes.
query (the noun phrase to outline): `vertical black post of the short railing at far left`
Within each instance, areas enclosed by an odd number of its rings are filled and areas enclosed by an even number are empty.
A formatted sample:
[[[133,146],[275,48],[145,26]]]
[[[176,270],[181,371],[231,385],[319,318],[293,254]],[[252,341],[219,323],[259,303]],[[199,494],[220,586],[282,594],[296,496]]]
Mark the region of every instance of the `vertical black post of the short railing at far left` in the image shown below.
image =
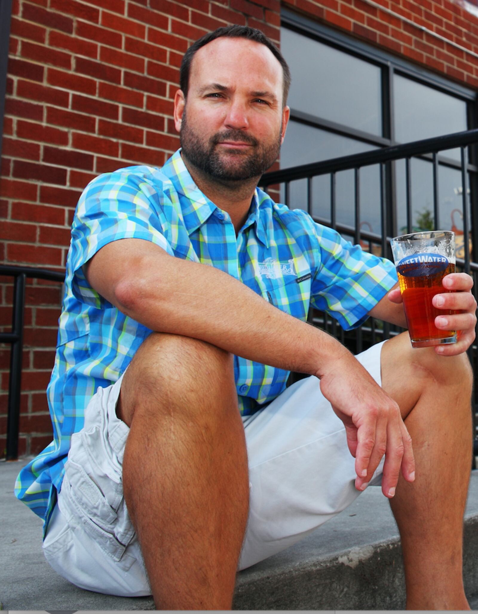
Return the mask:
[[[25,273],[20,273],[15,277],[15,286],[13,287],[12,333],[16,338],[12,343],[12,349],[10,351],[10,381],[7,417],[7,461],[15,461],[18,458],[25,285],[26,275]]]

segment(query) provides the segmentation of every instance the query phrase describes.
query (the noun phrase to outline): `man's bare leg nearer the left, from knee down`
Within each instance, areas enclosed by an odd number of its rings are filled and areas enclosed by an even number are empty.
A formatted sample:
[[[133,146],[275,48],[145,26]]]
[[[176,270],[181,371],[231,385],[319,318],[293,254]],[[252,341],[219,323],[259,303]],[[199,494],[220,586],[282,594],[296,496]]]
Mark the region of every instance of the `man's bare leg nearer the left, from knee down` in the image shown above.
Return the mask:
[[[249,478],[233,357],[153,333],[121,385],[126,505],[156,608],[231,608]]]

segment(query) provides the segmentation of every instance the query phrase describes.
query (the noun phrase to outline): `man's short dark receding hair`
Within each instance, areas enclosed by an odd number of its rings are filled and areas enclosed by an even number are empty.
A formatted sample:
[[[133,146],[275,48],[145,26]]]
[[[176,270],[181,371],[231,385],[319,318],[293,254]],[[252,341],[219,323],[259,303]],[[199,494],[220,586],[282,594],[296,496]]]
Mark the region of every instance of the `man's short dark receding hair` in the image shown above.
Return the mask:
[[[287,65],[287,62],[284,60],[282,54],[279,49],[277,49],[276,45],[269,39],[263,32],[256,28],[249,28],[249,26],[225,26],[224,28],[217,28],[214,32],[210,32],[208,34],[204,34],[198,41],[193,42],[191,47],[184,54],[181,68],[179,71],[179,87],[181,88],[184,97],[187,98],[188,95],[188,87],[189,87],[189,74],[191,69],[191,62],[193,61],[193,57],[201,47],[207,45],[211,41],[215,41],[222,36],[226,36],[229,38],[245,38],[248,41],[260,42],[263,45],[266,45],[268,49],[276,56],[277,60],[279,60],[280,66],[282,66],[282,76],[283,76],[283,104],[285,105],[287,101],[287,94],[290,86],[290,70]]]

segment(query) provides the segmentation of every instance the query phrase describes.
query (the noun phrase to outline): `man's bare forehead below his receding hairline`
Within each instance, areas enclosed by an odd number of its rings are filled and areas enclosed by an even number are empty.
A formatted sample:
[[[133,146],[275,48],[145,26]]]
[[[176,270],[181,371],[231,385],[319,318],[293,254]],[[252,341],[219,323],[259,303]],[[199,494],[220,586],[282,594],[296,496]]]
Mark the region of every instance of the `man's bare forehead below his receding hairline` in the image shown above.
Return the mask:
[[[193,87],[201,87],[205,80],[223,83],[237,76],[282,88],[279,60],[262,43],[223,36],[198,49],[193,57],[190,72]]]

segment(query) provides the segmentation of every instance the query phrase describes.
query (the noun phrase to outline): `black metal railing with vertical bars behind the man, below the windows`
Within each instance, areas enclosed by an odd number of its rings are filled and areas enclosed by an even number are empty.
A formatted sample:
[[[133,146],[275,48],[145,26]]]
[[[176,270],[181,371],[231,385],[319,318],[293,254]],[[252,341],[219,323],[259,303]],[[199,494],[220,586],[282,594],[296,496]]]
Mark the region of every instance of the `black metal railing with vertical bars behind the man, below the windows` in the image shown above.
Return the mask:
[[[474,278],[474,295],[478,298],[478,263],[471,259],[470,245],[473,254],[476,257],[478,250],[478,206],[477,206],[477,181],[478,168],[474,164],[467,161],[468,153],[471,160],[477,160],[476,144],[478,144],[478,130],[470,130],[461,133],[449,134],[447,136],[439,136],[433,139],[416,141],[404,145],[386,147],[384,149],[376,149],[366,153],[358,153],[342,158],[334,158],[331,160],[320,161],[294,168],[281,169],[272,173],[266,173],[261,177],[260,186],[270,191],[277,187],[280,188],[280,196],[282,201],[288,206],[298,207],[297,202],[291,203],[291,184],[295,181],[303,180],[306,182],[306,210],[314,218],[316,222],[330,226],[342,235],[349,236],[355,243],[362,243],[365,249],[378,252],[384,257],[391,257],[390,238],[403,234],[398,229],[395,187],[393,186],[394,168],[393,164],[398,160],[404,160],[405,163],[405,204],[406,204],[406,231],[412,232],[412,177],[411,177],[411,160],[421,158],[428,160],[433,164],[433,223],[434,228],[447,230],[440,227],[439,216],[439,173],[442,167],[448,166],[461,171],[461,215],[463,216],[463,257],[457,258],[457,270],[465,271]],[[460,148],[460,159],[452,159],[446,150]],[[469,150],[469,151],[468,151]],[[360,202],[360,176],[361,169],[379,165],[380,171],[380,233],[374,233],[371,228],[363,230],[361,228],[361,202]],[[336,179],[337,173],[341,171],[353,170],[353,223],[344,224],[337,222],[336,208]],[[470,182],[470,190],[468,190],[468,174],[472,177]],[[314,215],[312,207],[312,188],[315,177],[329,176],[330,177],[330,209],[328,217],[320,217]],[[460,193],[460,192],[458,192]],[[468,203],[468,193],[470,203]],[[469,228],[469,216],[471,214],[471,231]],[[426,230],[423,228],[423,230]],[[372,249],[374,248],[374,249]],[[344,332],[336,322],[327,314],[311,309],[309,312],[309,321],[312,324],[324,328],[330,332],[352,351],[361,352],[364,344],[367,346],[376,343],[376,341],[387,339],[390,335],[396,335],[401,329],[391,326],[385,322],[376,322],[370,318],[368,322],[360,328],[352,332]],[[474,343],[469,349],[468,354],[472,363],[475,376],[477,375],[477,345]],[[478,410],[477,397],[474,401],[474,414]],[[478,446],[476,446],[476,454],[478,454]]]

